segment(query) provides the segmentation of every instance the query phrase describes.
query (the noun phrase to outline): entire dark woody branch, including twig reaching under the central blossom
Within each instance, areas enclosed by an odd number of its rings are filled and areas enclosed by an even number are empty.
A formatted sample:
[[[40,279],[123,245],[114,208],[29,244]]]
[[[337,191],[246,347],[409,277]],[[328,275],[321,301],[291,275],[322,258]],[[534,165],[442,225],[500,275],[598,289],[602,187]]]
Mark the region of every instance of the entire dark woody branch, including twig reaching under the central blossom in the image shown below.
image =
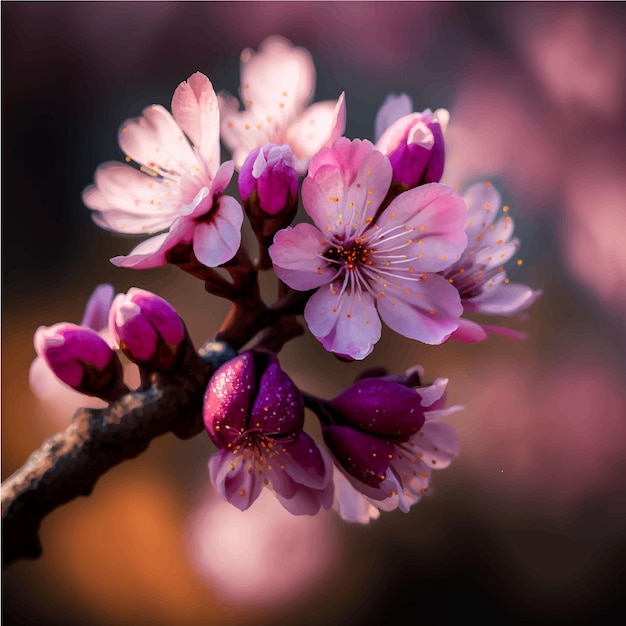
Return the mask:
[[[175,374],[144,376],[149,385],[124,394],[105,409],[79,409],[65,431],[46,440],[2,483],[3,567],[20,558],[38,558],[43,518],[78,496],[89,495],[103,474],[141,454],[153,439],[168,432],[181,439],[200,433],[209,379],[236,354],[230,342],[237,349],[250,342],[250,347],[280,351],[302,333],[295,317],[302,309],[302,294],[298,295],[266,308],[256,319],[235,304],[240,316],[225,322],[219,341],[207,342],[198,353],[189,341]]]

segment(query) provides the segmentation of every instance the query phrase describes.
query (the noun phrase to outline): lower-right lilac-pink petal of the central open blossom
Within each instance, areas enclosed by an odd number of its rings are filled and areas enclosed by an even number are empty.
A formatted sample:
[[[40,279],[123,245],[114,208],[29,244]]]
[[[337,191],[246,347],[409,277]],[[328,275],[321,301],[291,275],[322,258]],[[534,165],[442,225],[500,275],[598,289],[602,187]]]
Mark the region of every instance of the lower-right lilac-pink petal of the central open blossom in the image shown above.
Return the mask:
[[[427,279],[419,283],[394,278],[394,284],[384,292],[386,297],[378,298],[377,308],[392,330],[438,345],[458,328],[463,307],[458,291],[445,278],[425,276]]]

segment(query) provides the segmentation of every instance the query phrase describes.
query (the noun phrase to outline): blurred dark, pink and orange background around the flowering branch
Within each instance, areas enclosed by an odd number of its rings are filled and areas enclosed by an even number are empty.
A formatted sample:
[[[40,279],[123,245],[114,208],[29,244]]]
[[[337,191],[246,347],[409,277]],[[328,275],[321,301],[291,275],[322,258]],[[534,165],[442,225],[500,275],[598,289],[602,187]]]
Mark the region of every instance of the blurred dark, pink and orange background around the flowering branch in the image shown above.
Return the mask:
[[[50,514],[43,556],[2,574],[9,625],[621,623],[626,562],[626,10],[623,3],[2,3],[2,477],[70,421],[28,386],[41,324],[80,321],[97,283],[172,302],[200,345],[225,301],[176,268],[108,259],[136,243],[81,203],[119,125],[194,71],[236,93],[239,54],[309,49],[316,100],[346,92],[373,138],[388,93],[451,112],[444,181],[491,180],[511,206],[509,275],[543,289],[528,332],[425,347],[385,332],[345,364],[310,335],[281,353],[331,397],[365,367],[450,378],[461,456],[410,514],[246,514],[213,494],[203,435],[156,440]],[[268,290],[272,289],[267,279]],[[303,355],[305,358],[303,358]],[[616,621],[617,620],[617,621]]]

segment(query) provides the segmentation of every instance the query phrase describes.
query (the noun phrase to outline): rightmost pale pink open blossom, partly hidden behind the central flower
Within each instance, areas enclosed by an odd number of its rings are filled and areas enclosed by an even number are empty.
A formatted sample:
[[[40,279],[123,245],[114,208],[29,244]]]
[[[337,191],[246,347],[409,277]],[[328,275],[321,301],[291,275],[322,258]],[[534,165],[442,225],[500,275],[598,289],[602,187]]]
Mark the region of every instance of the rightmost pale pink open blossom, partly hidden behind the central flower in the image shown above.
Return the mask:
[[[472,185],[463,197],[467,204],[467,249],[444,276],[459,290],[467,313],[511,316],[526,310],[541,291],[510,283],[506,277],[503,265],[519,247],[519,240],[512,238],[514,224],[508,215],[509,207],[503,208],[505,215],[496,221],[500,194],[489,182]],[[452,338],[474,343],[483,341],[487,331],[523,337],[506,328],[462,319]]]

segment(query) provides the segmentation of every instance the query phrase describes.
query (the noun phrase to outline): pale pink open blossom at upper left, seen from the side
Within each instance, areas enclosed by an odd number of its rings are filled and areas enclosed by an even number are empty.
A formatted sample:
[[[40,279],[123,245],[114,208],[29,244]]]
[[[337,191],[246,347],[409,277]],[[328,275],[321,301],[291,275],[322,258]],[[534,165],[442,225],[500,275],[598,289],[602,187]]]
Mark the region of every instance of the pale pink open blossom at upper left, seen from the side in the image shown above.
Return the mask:
[[[233,258],[241,243],[242,208],[222,195],[233,163],[219,163],[219,110],[209,79],[196,72],[182,82],[172,112],[153,105],[137,121],[124,123],[120,147],[126,161],[136,161],[140,169],[104,163],[83,193],[99,226],[135,235],[161,233],[128,256],[111,259],[115,265],[159,267],[183,244],[193,247],[201,263],[215,267]]]

